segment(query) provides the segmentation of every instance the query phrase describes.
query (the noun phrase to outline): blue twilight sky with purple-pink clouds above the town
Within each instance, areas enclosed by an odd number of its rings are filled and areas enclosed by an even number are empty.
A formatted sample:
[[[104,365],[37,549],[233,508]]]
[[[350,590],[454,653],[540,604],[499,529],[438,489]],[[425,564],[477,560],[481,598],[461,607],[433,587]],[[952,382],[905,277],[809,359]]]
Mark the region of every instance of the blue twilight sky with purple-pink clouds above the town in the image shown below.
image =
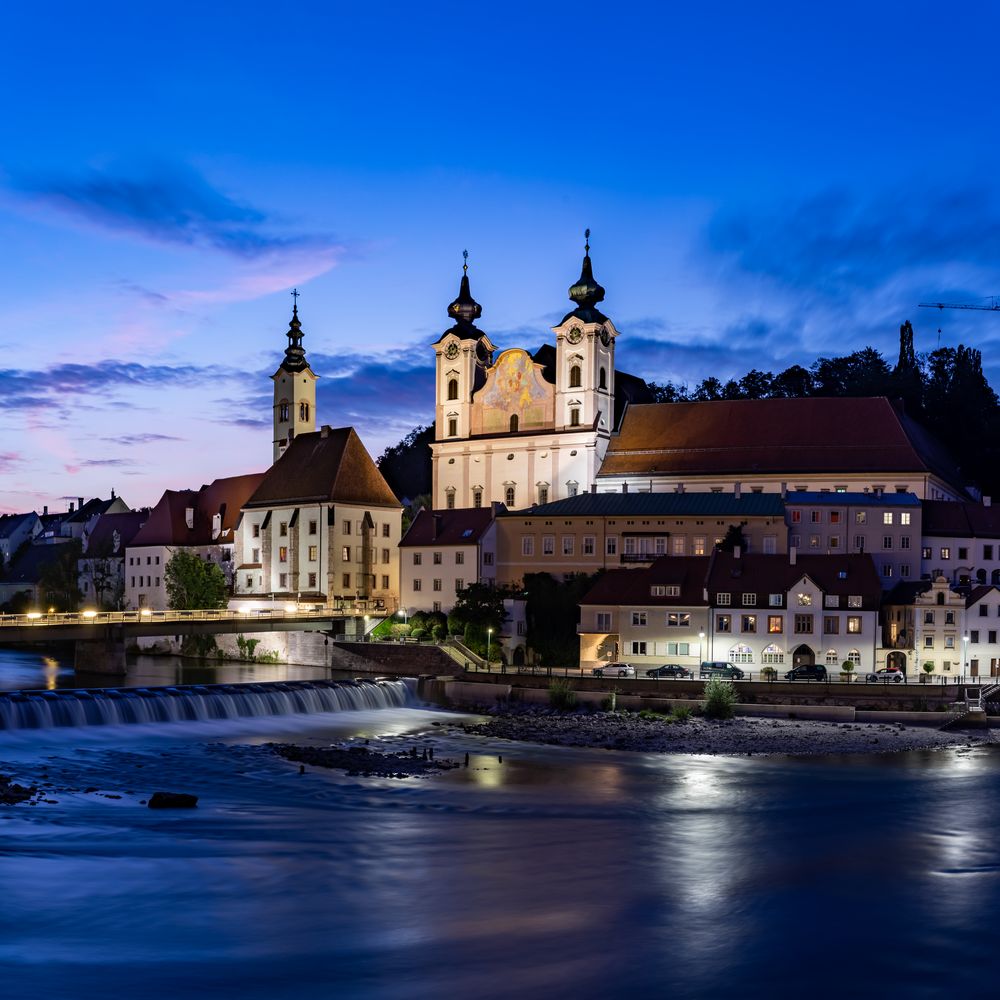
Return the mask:
[[[55,0],[0,30],[0,511],[155,503],[265,468],[298,286],[319,420],[377,456],[433,417],[470,253],[535,348],[582,234],[648,379],[1000,314],[991,2]],[[940,334],[938,331],[940,330]]]

